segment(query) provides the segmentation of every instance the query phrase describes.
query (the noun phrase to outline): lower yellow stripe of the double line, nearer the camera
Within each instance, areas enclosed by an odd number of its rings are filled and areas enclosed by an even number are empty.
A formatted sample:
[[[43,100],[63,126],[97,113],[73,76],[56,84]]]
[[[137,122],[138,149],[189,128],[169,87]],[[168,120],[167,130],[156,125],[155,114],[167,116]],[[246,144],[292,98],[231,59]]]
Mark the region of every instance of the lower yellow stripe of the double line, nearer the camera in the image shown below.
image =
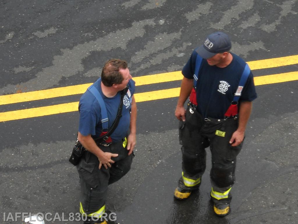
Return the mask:
[[[274,74],[268,76],[254,77],[255,85],[266,85],[280,82],[289,82],[298,80],[298,71]],[[134,94],[136,102],[145,102],[157,99],[166,99],[179,96],[180,88],[172,88],[165,90],[156,90],[152,92],[136,93]],[[30,117],[46,116],[58,113],[67,113],[78,110],[79,102],[64,103],[59,105],[52,105],[39,108],[24,109],[18,111],[8,111],[0,113],[0,122],[18,120]]]

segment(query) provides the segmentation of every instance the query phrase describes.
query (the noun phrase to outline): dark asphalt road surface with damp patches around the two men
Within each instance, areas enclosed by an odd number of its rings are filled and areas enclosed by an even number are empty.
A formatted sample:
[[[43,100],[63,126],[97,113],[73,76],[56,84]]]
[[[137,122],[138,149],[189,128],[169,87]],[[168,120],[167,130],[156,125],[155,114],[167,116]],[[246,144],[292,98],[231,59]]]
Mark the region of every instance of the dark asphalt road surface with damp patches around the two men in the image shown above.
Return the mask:
[[[21,223],[7,220],[16,212],[58,213],[64,221],[46,223],[82,223],[65,221],[79,211],[79,178],[68,162],[78,112],[23,119],[6,113],[27,116],[26,109],[77,102],[81,94],[3,103],[6,95],[92,83],[110,58],[127,60],[136,78],[168,77],[217,30],[229,34],[232,52],[245,61],[272,59],[272,66],[253,70],[268,84],[256,86],[231,213],[213,214],[208,150],[199,191],[183,202],[173,199],[181,176],[177,97],[150,96],[178,88],[180,80],[158,81],[136,88],[147,96],[137,103],[136,157],[131,171],[109,186],[106,207],[117,214],[109,223],[298,223],[298,0],[0,2],[0,117],[9,118],[0,122],[1,223]]]

